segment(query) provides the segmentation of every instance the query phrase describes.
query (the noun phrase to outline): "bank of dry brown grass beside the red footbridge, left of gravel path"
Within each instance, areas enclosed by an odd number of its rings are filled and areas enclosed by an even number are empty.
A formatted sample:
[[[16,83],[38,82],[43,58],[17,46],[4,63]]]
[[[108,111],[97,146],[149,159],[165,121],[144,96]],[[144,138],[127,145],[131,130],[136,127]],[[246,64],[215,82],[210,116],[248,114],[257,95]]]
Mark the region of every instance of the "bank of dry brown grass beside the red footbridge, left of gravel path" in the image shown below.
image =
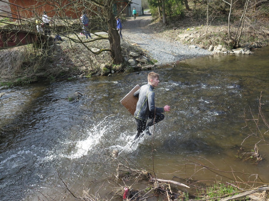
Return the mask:
[[[68,38],[56,42],[53,47],[38,49],[29,44],[0,51],[0,85],[22,85],[40,79],[73,79],[83,74],[86,77],[103,76],[111,71],[133,71],[129,64],[114,65],[110,52],[92,54],[100,47],[109,49],[108,40],[89,42],[81,35],[71,34],[71,38],[80,38],[82,43],[74,43]],[[96,37],[96,36],[95,36]],[[129,58],[130,52],[143,55],[143,51],[126,40],[121,42],[122,54]]]

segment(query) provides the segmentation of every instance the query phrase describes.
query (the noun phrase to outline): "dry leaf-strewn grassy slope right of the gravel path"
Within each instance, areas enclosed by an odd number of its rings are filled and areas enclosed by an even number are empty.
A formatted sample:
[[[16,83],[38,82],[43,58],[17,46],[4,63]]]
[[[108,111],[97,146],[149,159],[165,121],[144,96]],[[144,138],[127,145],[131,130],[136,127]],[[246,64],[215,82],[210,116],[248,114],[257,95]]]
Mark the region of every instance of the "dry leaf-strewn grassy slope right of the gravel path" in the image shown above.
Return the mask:
[[[211,3],[211,2],[210,2]],[[178,40],[183,44],[195,44],[201,48],[208,49],[210,45],[222,45],[226,49],[233,49],[229,38],[229,7],[222,4],[209,6],[207,15],[207,4],[189,2],[191,10],[184,10],[181,15],[167,17],[168,26],[164,27],[162,19],[154,16],[155,21],[150,28],[159,33],[167,40]],[[269,3],[259,7],[250,5],[245,14],[242,35],[239,47],[261,47],[269,44]],[[234,6],[230,16],[230,34],[239,35],[243,8]],[[189,35],[181,38],[182,35]],[[237,39],[237,38],[236,38]]]

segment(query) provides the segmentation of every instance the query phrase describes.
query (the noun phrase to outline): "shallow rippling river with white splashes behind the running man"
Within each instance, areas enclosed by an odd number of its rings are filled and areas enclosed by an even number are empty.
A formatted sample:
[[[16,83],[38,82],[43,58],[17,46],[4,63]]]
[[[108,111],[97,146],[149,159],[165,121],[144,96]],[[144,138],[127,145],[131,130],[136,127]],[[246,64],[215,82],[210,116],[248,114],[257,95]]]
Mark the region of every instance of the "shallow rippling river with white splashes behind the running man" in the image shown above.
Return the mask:
[[[254,121],[247,120],[245,127],[243,118],[258,117],[261,93],[262,112],[269,115],[268,55],[269,47],[263,47],[253,55],[207,56],[154,70],[160,74],[155,104],[171,106],[165,119],[151,128],[158,178],[269,183],[268,145],[253,137],[268,141],[268,127],[261,118],[259,130]],[[145,84],[148,72],[2,90],[0,200],[61,200],[61,180],[80,193],[113,172],[109,151],[122,151],[136,134],[135,120],[120,100],[135,85]],[[70,102],[67,95],[72,92],[83,97]],[[144,136],[137,147],[123,149],[115,160],[152,170],[151,142],[151,136]],[[251,152],[256,143],[265,158],[258,164],[240,155]],[[228,173],[232,170],[238,172]],[[98,190],[97,184],[91,193]],[[102,195],[108,196],[108,188],[100,189]]]

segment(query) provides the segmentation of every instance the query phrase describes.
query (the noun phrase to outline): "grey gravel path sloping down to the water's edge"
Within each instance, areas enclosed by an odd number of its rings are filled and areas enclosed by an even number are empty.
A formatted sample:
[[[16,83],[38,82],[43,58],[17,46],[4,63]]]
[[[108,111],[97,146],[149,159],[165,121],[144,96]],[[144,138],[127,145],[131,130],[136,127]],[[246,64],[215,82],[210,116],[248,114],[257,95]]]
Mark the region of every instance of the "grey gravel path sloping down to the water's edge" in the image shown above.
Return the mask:
[[[130,43],[137,43],[140,48],[147,50],[149,55],[158,61],[156,63],[158,66],[212,54],[199,47],[190,48],[178,41],[171,43],[158,37],[152,29],[148,28],[151,20],[151,14],[147,13],[138,16],[135,20],[132,17],[127,18],[127,22],[123,23],[122,35]]]

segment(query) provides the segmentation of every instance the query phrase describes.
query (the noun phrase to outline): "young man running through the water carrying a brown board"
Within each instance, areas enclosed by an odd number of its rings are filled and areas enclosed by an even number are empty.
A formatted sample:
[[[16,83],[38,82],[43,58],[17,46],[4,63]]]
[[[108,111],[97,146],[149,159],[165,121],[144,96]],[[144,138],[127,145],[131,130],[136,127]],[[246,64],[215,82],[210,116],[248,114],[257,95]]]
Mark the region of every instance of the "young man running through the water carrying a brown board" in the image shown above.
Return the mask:
[[[143,85],[134,93],[134,96],[138,97],[134,114],[137,125],[137,134],[135,136],[135,139],[137,139],[138,137],[142,137],[143,131],[145,131],[146,134],[151,135],[151,133],[149,132],[149,127],[164,119],[164,115],[161,113],[170,111],[169,105],[166,105],[164,107],[155,107],[155,92],[153,91],[153,89],[154,87],[158,86],[159,82],[159,74],[155,72],[150,72],[148,74],[148,84]],[[148,124],[146,124],[147,119],[152,120],[149,121]]]

